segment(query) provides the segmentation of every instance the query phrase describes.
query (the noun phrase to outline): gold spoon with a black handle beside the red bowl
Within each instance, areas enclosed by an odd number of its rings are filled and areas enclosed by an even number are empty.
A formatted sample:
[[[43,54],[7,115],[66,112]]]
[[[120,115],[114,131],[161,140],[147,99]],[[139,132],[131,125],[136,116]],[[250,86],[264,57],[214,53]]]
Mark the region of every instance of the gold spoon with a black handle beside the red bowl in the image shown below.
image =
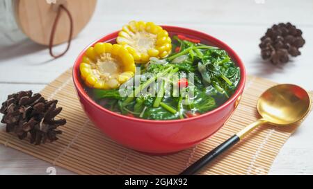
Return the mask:
[[[310,105],[310,96],[301,87],[294,84],[279,84],[271,87],[257,101],[257,111],[262,118],[243,128],[227,141],[214,148],[214,150],[202,156],[180,175],[195,174],[259,125],[269,123],[271,125],[284,126],[298,122],[310,111]]]

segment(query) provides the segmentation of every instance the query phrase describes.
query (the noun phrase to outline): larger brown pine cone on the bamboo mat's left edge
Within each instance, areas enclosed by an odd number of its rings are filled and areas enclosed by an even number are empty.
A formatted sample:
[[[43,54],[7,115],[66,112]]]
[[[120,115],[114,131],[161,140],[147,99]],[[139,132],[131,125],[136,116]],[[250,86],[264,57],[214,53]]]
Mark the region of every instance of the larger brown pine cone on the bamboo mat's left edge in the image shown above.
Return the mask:
[[[14,132],[19,139],[31,136],[31,143],[40,145],[47,139],[56,141],[57,134],[62,134],[56,128],[65,125],[66,120],[54,120],[62,108],[56,108],[58,100],[45,100],[40,93],[19,91],[8,96],[2,103],[0,113],[4,114],[1,123],[6,123],[6,132]]]

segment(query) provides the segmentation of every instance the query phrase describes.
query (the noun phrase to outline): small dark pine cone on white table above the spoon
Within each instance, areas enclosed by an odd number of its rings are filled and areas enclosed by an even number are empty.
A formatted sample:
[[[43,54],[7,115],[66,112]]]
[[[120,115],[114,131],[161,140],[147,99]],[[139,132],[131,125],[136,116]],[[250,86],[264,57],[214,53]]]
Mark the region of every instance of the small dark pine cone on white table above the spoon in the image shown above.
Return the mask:
[[[271,60],[273,64],[286,63],[289,55],[296,57],[300,55],[299,48],[305,44],[302,31],[296,26],[280,23],[268,28],[261,38],[261,55],[264,60]]]

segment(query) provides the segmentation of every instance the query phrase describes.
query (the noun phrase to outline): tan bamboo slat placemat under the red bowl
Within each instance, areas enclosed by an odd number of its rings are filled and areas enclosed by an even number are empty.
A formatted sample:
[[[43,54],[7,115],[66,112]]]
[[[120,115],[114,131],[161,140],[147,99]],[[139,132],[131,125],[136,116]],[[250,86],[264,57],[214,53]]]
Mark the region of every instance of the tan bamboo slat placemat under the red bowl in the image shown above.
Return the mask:
[[[216,145],[257,120],[259,95],[275,85],[262,78],[248,77],[239,107],[224,127],[195,147],[168,156],[148,156],[118,145],[88,120],[72,83],[72,71],[66,71],[41,93],[58,99],[63,107],[59,117],[66,118],[63,134],[54,143],[35,146],[29,141],[0,131],[0,143],[31,154],[77,174],[178,174]],[[312,97],[313,94],[310,93]],[[298,125],[255,129],[243,141],[219,156],[200,174],[267,174],[275,156]]]

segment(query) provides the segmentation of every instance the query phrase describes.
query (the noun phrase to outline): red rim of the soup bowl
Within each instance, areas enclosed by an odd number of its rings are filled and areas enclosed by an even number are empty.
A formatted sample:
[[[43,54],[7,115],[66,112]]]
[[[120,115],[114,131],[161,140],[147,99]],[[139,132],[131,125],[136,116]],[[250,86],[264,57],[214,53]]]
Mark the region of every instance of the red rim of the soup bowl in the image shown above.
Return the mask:
[[[106,41],[111,41],[112,39],[115,39],[118,36],[118,33],[120,32],[120,30],[110,33],[109,35],[104,35],[104,37],[101,37],[95,40],[94,42],[86,46],[86,48],[84,48],[83,51],[81,51],[81,53],[79,53],[77,59],[74,62],[74,66],[72,68],[72,80],[74,82],[75,88],[77,89],[77,94],[78,95],[81,94],[81,96],[83,96],[83,98],[85,98],[91,105],[93,105],[100,111],[105,111],[106,113],[111,114],[111,116],[115,116],[115,117],[126,119],[126,120],[139,121],[143,123],[156,123],[156,124],[157,123],[183,123],[186,121],[188,122],[191,120],[204,118],[211,114],[215,114],[218,111],[222,111],[225,107],[229,106],[232,103],[232,101],[236,100],[241,95],[246,84],[246,69],[239,55],[237,55],[237,53],[232,48],[230,48],[230,46],[220,41],[220,39],[217,39],[216,37],[208,35],[207,33],[202,33],[198,30],[193,30],[190,28],[184,28],[184,27],[179,27],[179,26],[167,26],[167,25],[161,25],[161,27],[167,30],[168,33],[184,33],[184,35],[190,35],[195,39],[197,38],[205,39],[217,46],[223,46],[223,50],[225,50],[230,55],[230,57],[232,57],[232,59],[236,63],[236,66],[239,66],[239,69],[241,72],[241,75],[240,75],[241,79],[239,81],[239,84],[237,85],[236,91],[232,94],[232,96],[230,96],[230,98],[228,98],[226,102],[223,103],[223,105],[220,105],[216,109],[208,111],[204,114],[200,114],[199,116],[194,116],[191,118],[184,118],[184,119],[177,119],[177,120],[147,120],[147,119],[141,119],[141,118],[134,118],[134,117],[115,113],[114,111],[111,111],[109,109],[106,109],[98,105],[97,102],[95,102],[92,98],[90,98],[90,96],[88,96],[86,91],[83,89],[82,84],[79,82],[80,78],[79,78],[79,75],[77,74],[79,72],[79,64],[81,63],[81,59],[84,53],[90,46],[94,46],[97,42],[106,42]]]

